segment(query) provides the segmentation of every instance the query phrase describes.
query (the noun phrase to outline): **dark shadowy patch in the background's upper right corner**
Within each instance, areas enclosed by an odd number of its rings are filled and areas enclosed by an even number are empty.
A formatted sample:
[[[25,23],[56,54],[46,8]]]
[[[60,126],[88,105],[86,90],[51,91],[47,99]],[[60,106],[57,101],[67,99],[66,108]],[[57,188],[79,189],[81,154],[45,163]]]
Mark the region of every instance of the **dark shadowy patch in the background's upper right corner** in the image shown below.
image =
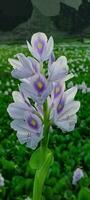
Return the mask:
[[[59,30],[74,34],[81,33],[90,26],[90,3],[88,0],[82,0],[78,10],[64,3],[60,3],[60,7],[59,15],[53,17],[54,24]]]

